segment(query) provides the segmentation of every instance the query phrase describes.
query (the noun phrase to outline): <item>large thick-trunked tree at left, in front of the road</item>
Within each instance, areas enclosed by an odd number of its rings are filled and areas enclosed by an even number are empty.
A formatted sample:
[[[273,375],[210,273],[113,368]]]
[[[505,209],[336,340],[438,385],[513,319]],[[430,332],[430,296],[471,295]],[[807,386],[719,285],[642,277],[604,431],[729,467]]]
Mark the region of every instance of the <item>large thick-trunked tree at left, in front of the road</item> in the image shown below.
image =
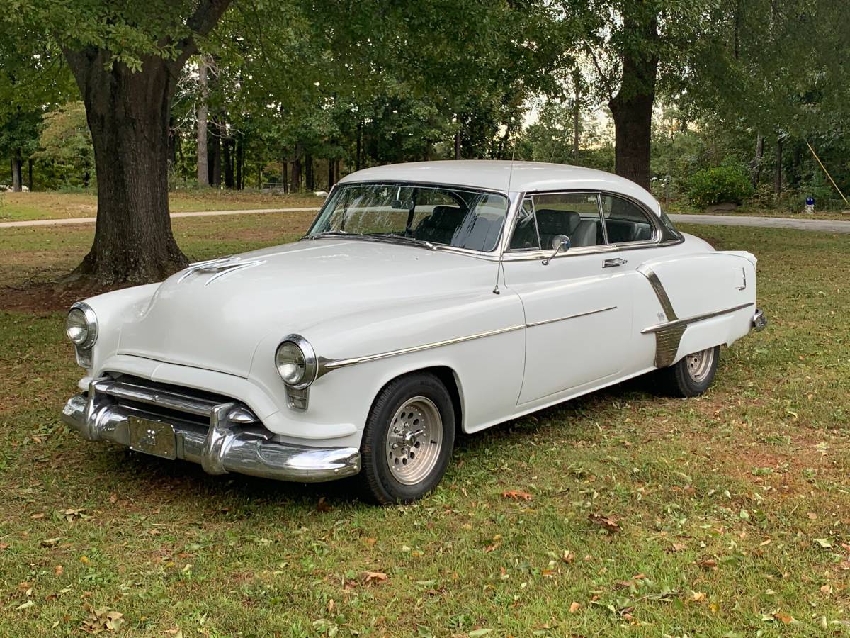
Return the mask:
[[[186,263],[168,216],[171,100],[180,71],[229,3],[31,0],[4,16],[22,45],[25,34],[53,38],[86,107],[98,223],[74,276],[150,282]]]

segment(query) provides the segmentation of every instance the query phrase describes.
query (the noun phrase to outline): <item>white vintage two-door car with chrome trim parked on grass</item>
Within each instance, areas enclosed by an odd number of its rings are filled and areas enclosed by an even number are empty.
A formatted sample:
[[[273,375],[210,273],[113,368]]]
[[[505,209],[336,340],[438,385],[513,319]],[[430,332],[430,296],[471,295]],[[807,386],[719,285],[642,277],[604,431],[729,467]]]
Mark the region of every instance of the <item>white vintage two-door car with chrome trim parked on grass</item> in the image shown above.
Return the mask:
[[[677,231],[627,179],[532,162],[367,168],[294,243],[75,304],[89,441],[286,481],[431,490],[456,431],[660,370],[711,384],[765,325],[756,258]]]

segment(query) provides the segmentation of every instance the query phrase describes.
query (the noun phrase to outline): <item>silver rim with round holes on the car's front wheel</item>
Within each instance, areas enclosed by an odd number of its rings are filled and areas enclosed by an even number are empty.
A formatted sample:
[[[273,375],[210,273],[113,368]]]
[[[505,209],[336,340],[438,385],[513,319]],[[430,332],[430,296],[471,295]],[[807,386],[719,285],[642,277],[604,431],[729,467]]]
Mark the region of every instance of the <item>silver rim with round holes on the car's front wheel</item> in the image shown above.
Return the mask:
[[[416,485],[434,469],[443,447],[443,419],[427,396],[414,396],[395,411],[387,430],[389,470],[399,483]]]

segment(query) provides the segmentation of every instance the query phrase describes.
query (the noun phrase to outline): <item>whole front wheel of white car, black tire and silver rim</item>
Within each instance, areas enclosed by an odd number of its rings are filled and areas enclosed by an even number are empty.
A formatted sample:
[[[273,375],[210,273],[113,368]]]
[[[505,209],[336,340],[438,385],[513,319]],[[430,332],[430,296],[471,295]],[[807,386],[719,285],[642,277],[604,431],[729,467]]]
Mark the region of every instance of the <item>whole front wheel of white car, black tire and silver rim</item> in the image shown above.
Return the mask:
[[[433,374],[390,381],[378,394],[363,430],[359,480],[364,498],[411,503],[437,486],[455,445],[455,409]]]

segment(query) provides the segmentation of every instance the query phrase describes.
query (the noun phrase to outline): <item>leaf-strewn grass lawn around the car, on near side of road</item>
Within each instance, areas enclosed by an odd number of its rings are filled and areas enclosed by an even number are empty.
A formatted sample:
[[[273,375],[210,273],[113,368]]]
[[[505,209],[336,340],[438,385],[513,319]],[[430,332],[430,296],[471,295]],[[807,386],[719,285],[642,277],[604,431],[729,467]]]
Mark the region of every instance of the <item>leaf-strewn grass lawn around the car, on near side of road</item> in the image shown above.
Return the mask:
[[[203,258],[307,221],[174,228]],[[0,635],[850,635],[847,238],[683,230],[757,253],[771,321],[706,396],[638,379],[462,437],[405,507],[82,441],[64,312],[0,310]],[[67,270],[92,232],[0,231],[0,283]]]

